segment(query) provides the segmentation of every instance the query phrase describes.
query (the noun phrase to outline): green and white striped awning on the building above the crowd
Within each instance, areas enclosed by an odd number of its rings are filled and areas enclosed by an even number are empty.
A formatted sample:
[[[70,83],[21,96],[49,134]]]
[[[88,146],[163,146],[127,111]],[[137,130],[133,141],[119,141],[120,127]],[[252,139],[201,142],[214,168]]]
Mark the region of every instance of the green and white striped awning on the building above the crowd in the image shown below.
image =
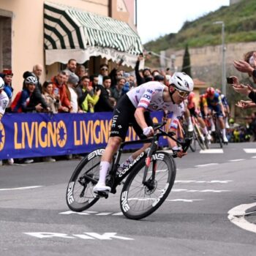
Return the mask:
[[[44,39],[46,64],[102,56],[123,58],[124,64],[134,66],[143,51],[140,37],[127,23],[51,2],[44,4]]]

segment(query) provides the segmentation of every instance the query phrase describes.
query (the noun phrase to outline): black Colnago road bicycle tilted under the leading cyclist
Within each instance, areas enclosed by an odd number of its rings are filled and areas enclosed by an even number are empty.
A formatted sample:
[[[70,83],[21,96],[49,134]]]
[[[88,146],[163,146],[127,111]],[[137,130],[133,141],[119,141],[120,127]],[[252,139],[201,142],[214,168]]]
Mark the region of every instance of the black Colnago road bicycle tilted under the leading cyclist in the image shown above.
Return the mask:
[[[176,163],[173,157],[176,157],[176,154],[171,155],[165,151],[157,151],[160,137],[167,136],[176,140],[173,138],[174,132],[165,132],[161,128],[164,125],[165,122],[157,124],[154,127],[156,132],[151,138],[121,143],[113,157],[106,185],[111,188],[110,192],[115,194],[116,187],[124,181],[120,206],[124,216],[129,219],[142,219],[152,214],[162,205],[173,187],[176,178]],[[187,151],[190,142],[190,138],[187,138],[184,143],[177,141],[182,145],[184,151]],[[140,143],[151,143],[151,146],[121,173],[118,173],[124,146]],[[72,211],[84,211],[97,203],[99,198],[108,198],[108,194],[105,192],[99,192],[98,195],[93,192],[99,179],[99,162],[104,150],[104,148],[99,148],[92,151],[81,160],[72,173],[66,193],[67,206]]]

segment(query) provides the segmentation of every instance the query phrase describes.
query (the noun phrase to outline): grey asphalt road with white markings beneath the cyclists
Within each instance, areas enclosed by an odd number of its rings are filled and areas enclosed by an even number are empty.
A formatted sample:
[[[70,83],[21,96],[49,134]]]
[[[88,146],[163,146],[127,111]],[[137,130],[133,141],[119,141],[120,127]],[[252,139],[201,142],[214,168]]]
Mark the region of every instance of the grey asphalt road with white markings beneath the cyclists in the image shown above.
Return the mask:
[[[120,189],[69,211],[78,160],[0,167],[0,255],[255,255],[253,226],[239,227],[233,209],[256,203],[256,143],[211,148],[176,159],[170,195],[140,221],[121,214]]]

